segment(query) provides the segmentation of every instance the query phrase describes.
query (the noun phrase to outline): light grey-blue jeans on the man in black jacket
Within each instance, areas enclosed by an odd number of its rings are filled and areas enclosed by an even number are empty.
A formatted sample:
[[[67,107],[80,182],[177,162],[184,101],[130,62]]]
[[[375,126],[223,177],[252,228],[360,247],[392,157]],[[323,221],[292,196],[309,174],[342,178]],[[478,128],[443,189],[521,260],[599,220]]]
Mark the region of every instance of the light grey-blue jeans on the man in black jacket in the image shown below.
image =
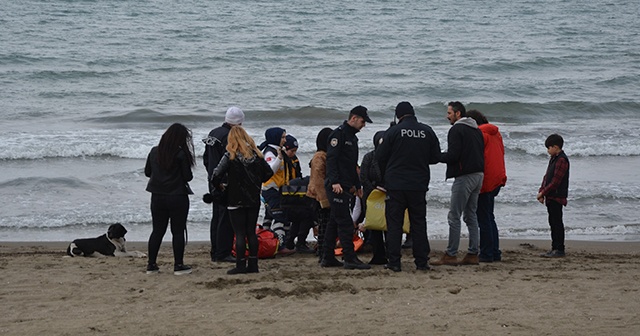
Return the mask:
[[[478,195],[482,187],[484,173],[472,173],[456,177],[451,186],[451,204],[449,205],[449,244],[447,254],[458,255],[460,246],[460,216],[469,229],[469,254],[478,254]]]

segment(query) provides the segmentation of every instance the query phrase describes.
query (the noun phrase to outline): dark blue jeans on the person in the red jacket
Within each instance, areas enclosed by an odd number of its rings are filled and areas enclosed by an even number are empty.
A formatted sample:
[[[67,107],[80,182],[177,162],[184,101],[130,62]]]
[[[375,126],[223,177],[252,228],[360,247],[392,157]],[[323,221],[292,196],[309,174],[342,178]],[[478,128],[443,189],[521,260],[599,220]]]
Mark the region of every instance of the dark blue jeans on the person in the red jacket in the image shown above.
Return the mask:
[[[500,193],[500,188],[478,196],[478,226],[480,228],[480,259],[486,261],[500,261],[502,252],[500,251],[500,241],[498,237],[498,225],[493,214],[495,198]]]

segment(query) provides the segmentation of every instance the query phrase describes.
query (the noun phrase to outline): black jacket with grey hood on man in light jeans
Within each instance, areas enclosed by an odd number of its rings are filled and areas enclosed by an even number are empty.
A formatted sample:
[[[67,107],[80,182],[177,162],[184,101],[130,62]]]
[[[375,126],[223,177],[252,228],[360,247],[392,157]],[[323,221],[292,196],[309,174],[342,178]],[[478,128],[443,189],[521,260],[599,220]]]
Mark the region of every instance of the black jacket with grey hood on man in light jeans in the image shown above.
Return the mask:
[[[478,124],[471,118],[461,118],[449,129],[447,151],[440,162],[447,164],[446,178],[484,171],[484,140]]]

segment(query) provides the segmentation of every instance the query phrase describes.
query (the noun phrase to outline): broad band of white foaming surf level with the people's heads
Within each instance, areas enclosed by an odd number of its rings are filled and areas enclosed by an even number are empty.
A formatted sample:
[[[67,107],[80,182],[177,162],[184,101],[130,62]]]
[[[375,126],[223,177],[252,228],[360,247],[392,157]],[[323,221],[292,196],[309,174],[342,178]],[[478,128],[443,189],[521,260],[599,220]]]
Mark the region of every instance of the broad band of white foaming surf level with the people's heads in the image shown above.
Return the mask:
[[[311,154],[315,151],[315,138],[323,127],[335,125],[291,125],[286,120],[274,120],[274,125],[285,127],[300,144],[299,153]],[[208,127],[207,127],[208,126]],[[200,139],[206,137],[216,125],[193,128],[196,154],[201,155],[204,145]],[[387,124],[371,124],[359,134],[361,154],[373,149],[373,134],[387,128]],[[211,127],[211,128],[209,128]],[[247,122],[245,128],[259,144],[264,138],[264,130],[270,126],[252,127]],[[640,120],[629,120],[625,125],[613,124],[609,120],[571,121],[565,124],[499,124],[504,137],[507,155],[545,156],[544,139],[551,133],[560,133],[565,138],[565,151],[571,156],[640,156]],[[435,125],[440,145],[447,147],[449,125]],[[47,132],[5,132],[0,134],[0,159],[33,160],[51,157],[115,156],[143,159],[149,149],[156,145],[163,129],[78,128],[51,130]],[[309,155],[310,156],[310,155]]]

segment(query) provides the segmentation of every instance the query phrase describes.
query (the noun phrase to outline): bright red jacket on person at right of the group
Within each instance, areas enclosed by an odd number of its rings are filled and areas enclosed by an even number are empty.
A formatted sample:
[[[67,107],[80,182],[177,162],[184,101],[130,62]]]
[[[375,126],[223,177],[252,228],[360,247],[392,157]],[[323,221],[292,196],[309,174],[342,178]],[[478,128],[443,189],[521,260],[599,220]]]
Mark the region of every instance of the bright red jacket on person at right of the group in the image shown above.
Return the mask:
[[[507,183],[507,169],[504,166],[504,144],[498,126],[483,124],[478,126],[484,138],[484,180],[480,193],[493,191]]]

